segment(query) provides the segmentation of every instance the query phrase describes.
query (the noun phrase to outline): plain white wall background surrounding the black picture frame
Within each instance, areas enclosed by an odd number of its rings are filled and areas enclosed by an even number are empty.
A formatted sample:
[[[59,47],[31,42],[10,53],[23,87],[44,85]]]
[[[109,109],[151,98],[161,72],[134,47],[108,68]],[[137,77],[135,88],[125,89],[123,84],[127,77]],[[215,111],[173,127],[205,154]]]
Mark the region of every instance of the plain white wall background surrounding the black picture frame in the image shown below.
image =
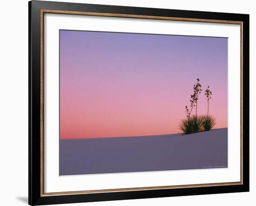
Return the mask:
[[[61,0],[56,0],[61,1]],[[65,0],[62,0],[65,1]],[[256,110],[256,13],[251,0],[67,0],[69,2],[141,6],[197,11],[249,13],[250,14],[250,192],[211,194],[200,196],[121,200],[72,205],[129,206],[129,205],[196,205],[216,206],[229,204],[240,206],[255,204],[256,195],[256,130],[253,130]],[[28,9],[27,0],[3,1],[0,13],[0,194],[1,205],[27,204],[27,128],[28,128]]]

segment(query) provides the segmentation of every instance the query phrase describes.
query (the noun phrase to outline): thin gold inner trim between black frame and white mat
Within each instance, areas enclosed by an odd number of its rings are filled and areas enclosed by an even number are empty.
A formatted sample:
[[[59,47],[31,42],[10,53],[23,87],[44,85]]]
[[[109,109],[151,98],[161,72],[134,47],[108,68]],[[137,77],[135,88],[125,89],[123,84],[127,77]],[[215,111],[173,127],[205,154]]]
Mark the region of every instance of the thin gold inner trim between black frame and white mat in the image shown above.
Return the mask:
[[[158,19],[158,20],[174,20],[174,21],[190,21],[190,22],[206,22],[206,23],[240,25],[240,181],[209,183],[209,184],[132,187],[132,188],[119,188],[119,189],[100,189],[100,190],[44,193],[44,13],[121,17],[121,18],[135,18],[135,19]],[[50,9],[40,10],[40,196],[128,192],[128,191],[175,189],[175,188],[189,188],[189,187],[214,187],[214,186],[229,186],[229,185],[242,185],[242,184],[243,184],[243,21],[145,16],[145,15],[119,14],[119,13],[76,12],[76,11],[62,11],[62,10],[50,10]]]

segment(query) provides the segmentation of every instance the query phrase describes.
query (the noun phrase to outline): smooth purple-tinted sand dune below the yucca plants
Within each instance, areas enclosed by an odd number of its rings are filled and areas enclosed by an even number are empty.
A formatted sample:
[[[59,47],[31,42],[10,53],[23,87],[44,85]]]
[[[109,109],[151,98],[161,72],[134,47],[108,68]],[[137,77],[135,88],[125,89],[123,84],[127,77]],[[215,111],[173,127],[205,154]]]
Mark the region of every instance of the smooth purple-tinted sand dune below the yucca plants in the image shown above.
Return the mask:
[[[60,141],[60,175],[228,167],[228,129]]]

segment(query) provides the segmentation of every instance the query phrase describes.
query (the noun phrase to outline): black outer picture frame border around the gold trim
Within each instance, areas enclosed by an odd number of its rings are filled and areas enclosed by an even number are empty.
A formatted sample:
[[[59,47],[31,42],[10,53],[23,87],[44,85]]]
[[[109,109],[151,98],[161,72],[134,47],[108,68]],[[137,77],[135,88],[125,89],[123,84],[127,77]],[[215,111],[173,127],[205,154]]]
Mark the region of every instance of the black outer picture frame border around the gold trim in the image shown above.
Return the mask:
[[[41,50],[40,50],[40,15],[41,10],[58,10],[74,12],[110,13],[124,15],[142,15],[155,17],[173,17],[190,19],[216,19],[225,21],[240,21],[243,23],[243,183],[235,185],[181,187],[169,189],[150,189],[137,191],[113,191],[108,193],[80,193],[44,195],[42,191],[41,157]],[[80,3],[64,3],[32,0],[28,2],[29,25],[29,127],[28,127],[28,203],[29,205],[50,205],[107,200],[128,200],[156,197],[172,197],[184,195],[200,195],[214,193],[237,193],[249,191],[249,14],[215,13],[201,11],[184,11],[159,8],[142,8],[129,6],[107,6]]]

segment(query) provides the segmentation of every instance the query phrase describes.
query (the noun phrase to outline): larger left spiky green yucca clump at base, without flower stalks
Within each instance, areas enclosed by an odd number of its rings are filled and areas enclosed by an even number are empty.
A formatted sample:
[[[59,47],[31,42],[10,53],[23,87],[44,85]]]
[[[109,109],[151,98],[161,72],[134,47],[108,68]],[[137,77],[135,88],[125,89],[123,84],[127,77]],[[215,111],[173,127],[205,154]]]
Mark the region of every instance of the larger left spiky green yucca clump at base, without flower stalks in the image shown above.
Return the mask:
[[[186,135],[200,132],[202,128],[202,119],[202,116],[195,115],[188,119],[183,119],[179,129]]]

